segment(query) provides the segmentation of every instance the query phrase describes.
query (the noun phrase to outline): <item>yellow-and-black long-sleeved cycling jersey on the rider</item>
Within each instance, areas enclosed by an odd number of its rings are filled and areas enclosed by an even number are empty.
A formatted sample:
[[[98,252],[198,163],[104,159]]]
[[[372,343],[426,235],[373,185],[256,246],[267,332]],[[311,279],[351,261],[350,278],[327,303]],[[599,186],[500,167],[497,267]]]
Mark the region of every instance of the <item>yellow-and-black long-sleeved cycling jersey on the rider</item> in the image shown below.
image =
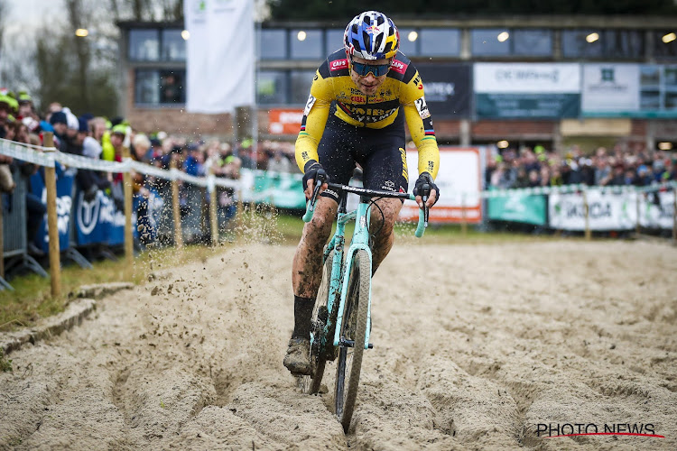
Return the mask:
[[[350,78],[346,51],[335,51],[315,73],[308,97],[301,132],[296,140],[296,162],[303,171],[308,161],[318,161],[318,144],[324,133],[332,103],[339,119],[356,127],[384,128],[394,123],[402,106],[413,143],[419,151],[419,173],[433,178],[440,166],[440,152],[432,128],[431,114],[423,97],[418,70],[397,52],[385,81],[374,96],[366,96]]]

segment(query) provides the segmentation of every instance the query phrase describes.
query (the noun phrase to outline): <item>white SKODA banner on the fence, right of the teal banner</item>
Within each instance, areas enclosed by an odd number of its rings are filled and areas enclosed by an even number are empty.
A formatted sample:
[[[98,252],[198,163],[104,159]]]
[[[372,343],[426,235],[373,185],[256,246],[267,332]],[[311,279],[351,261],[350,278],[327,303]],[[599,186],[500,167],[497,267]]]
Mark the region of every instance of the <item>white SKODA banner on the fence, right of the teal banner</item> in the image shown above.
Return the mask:
[[[637,225],[636,193],[589,189],[590,230],[630,230]],[[548,198],[549,224],[560,230],[585,230],[583,193],[552,193]]]

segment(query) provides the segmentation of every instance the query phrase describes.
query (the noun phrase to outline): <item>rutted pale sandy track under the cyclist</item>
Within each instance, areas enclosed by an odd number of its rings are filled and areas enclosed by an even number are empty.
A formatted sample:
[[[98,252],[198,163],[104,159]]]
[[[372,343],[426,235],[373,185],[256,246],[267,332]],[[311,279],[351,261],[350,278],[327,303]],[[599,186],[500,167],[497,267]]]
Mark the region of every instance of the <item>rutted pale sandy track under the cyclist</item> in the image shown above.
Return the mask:
[[[348,436],[330,396],[301,395],[282,366],[293,249],[253,245],[12,354],[0,448],[677,448],[677,250],[406,243],[374,280]],[[540,423],[666,438],[539,437]]]

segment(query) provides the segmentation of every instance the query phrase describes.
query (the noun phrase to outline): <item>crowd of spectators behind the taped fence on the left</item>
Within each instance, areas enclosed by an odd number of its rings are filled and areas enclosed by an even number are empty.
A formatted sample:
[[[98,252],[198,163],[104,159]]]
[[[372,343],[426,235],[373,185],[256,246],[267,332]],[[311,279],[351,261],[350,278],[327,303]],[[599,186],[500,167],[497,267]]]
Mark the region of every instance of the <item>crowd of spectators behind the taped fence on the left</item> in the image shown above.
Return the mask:
[[[129,148],[135,161],[151,164],[158,168],[171,166],[187,174],[202,177],[211,171],[217,177],[239,179],[240,169],[273,170],[276,172],[297,172],[293,162],[293,143],[260,142],[245,140],[233,145],[218,140],[187,140],[185,137],[168,133],[138,133],[133,124],[127,124],[123,118],[108,120],[105,117],[87,113],[76,115],[70,108],[52,103],[41,114],[36,111],[32,97],[25,92],[15,96],[6,90],[0,90],[0,138],[17,143],[41,146],[45,132],[54,135],[54,145],[60,152],[80,155],[95,160],[122,161],[124,148]],[[173,163],[173,164],[172,164]],[[40,251],[32,244],[32,238],[44,216],[45,206],[42,199],[32,193],[30,178],[42,169],[23,161],[0,155],[0,192],[11,193],[14,190],[13,167],[19,166],[20,173],[29,179],[27,209],[29,216],[28,236],[32,253]],[[57,175],[63,168],[58,165]],[[97,170],[77,170],[75,175],[78,189],[86,201],[92,201],[102,192],[113,198],[118,208],[124,202],[122,174],[106,173]],[[150,228],[149,199],[158,196],[167,183],[140,172],[132,173],[134,185],[134,205],[141,223]],[[181,187],[181,211],[190,209],[190,186]],[[233,205],[232,190],[222,191],[218,196],[219,207]],[[153,234],[150,239],[154,239]]]

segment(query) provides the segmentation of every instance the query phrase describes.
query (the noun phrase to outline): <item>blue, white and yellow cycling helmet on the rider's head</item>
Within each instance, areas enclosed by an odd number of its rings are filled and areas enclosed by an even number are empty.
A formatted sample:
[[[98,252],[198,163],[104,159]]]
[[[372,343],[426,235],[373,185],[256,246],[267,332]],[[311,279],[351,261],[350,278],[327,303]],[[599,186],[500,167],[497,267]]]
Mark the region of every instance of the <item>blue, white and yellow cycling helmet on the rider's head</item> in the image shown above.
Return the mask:
[[[385,14],[366,11],[348,23],[343,41],[348,55],[365,60],[387,60],[400,48],[400,33]]]

